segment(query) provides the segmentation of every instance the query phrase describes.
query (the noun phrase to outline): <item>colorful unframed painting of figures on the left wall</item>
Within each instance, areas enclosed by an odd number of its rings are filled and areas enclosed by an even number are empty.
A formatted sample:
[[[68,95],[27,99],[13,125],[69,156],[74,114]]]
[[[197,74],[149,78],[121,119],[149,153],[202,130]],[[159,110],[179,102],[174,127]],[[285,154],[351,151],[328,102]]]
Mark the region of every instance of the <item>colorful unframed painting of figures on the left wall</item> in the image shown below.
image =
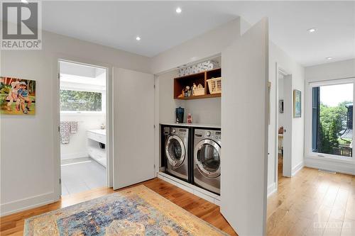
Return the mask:
[[[0,77],[1,114],[35,115],[35,81]]]

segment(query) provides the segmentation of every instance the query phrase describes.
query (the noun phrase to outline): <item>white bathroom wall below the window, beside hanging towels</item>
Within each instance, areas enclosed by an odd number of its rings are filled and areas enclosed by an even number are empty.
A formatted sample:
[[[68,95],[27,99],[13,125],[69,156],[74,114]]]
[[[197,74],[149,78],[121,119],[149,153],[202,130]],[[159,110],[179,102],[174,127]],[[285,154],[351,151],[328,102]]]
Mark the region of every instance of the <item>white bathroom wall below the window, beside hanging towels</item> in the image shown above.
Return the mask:
[[[77,121],[77,133],[70,134],[67,144],[60,144],[60,158],[71,159],[88,157],[87,153],[87,130],[98,130],[105,121],[106,114],[68,114],[60,113],[61,121]]]

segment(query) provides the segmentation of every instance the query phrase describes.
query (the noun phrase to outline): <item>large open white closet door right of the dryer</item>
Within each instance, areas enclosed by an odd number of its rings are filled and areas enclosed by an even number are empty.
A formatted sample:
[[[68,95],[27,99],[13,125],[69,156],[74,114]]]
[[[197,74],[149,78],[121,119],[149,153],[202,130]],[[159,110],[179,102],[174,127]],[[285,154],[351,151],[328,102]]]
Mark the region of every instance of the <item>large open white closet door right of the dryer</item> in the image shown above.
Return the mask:
[[[268,19],[222,52],[221,213],[239,235],[266,234]]]

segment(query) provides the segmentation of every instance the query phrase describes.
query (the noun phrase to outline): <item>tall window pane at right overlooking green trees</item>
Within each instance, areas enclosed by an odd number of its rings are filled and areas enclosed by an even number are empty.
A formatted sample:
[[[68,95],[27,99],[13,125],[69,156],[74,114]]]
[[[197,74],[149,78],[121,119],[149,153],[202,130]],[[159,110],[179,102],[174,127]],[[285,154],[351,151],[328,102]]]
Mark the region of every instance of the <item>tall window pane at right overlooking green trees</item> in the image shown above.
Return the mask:
[[[312,152],[352,157],[354,84],[312,87]]]

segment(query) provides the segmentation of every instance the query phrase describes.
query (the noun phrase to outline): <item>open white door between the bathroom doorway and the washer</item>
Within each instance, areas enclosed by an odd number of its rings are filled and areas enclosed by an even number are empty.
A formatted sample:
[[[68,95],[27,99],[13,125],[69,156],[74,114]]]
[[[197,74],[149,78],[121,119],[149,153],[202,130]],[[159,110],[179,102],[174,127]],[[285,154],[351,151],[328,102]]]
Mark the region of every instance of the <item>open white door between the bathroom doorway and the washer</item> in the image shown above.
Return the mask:
[[[114,189],[153,179],[154,76],[114,68]]]

